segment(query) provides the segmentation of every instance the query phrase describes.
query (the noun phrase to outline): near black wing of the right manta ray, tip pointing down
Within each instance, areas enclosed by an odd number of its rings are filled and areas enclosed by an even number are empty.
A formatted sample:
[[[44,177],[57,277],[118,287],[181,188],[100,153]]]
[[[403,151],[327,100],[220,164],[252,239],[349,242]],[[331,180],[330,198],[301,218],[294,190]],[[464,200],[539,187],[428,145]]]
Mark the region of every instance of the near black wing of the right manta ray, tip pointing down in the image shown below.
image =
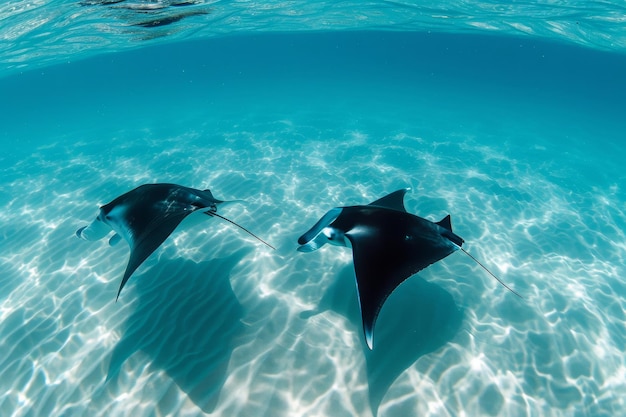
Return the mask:
[[[374,325],[389,295],[407,278],[458,249],[447,229],[406,212],[372,206],[344,209],[354,259],[363,331],[370,349]],[[342,225],[341,223],[348,224]],[[451,233],[451,231],[450,231]]]

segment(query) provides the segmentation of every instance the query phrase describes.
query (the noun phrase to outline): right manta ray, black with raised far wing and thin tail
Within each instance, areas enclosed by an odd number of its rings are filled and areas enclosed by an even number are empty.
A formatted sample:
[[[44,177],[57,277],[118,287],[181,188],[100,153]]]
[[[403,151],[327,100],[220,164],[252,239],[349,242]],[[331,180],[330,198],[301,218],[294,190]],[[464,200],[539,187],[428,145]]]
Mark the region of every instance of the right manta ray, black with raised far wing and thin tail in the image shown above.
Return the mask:
[[[411,275],[457,249],[521,298],[461,248],[464,240],[452,232],[449,215],[431,222],[408,213],[403,202],[408,190],[395,191],[366,206],[336,207],[298,239],[300,252],[312,252],[326,243],[352,248],[363,331],[370,350],[374,325],[387,297]]]

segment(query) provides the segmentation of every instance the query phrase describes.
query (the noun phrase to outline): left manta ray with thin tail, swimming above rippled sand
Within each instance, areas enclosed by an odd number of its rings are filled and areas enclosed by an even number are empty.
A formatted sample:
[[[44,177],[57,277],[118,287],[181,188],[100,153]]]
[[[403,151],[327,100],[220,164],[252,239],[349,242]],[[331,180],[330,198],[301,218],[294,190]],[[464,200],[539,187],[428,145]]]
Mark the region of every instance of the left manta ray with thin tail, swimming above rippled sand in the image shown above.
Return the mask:
[[[113,229],[115,234],[109,239],[111,246],[122,238],[128,242],[130,259],[115,298],[117,301],[133,272],[192,213],[219,217],[275,249],[246,228],[217,214],[218,205],[232,202],[216,199],[209,190],[176,184],[145,184],[100,207],[96,219],[78,229],[76,236],[93,241],[102,239]]]

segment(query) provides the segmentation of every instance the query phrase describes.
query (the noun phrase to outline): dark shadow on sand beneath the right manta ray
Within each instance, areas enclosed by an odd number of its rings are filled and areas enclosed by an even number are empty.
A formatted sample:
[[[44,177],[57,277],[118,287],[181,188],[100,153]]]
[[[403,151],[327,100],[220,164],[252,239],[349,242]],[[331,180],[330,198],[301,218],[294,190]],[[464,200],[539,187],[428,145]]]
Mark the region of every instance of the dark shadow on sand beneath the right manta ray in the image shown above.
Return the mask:
[[[346,266],[325,292],[319,307],[301,313],[301,318],[332,310],[348,319],[359,335],[365,356],[369,401],[372,413],[389,387],[420,357],[444,346],[454,338],[463,320],[463,311],[452,295],[419,276],[401,284],[378,317],[377,347],[370,350],[361,331],[361,313],[354,285],[354,270]]]

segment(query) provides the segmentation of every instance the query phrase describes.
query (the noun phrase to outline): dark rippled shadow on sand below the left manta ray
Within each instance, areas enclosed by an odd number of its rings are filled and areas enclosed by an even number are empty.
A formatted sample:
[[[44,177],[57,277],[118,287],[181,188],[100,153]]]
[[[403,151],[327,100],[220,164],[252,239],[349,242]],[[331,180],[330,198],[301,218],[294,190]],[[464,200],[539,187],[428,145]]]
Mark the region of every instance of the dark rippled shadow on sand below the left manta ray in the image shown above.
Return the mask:
[[[124,362],[141,351],[150,369],[165,371],[203,412],[213,412],[244,330],[244,309],[229,278],[251,250],[201,263],[164,262],[138,277],[137,308],[111,355],[107,384],[115,384]]]

